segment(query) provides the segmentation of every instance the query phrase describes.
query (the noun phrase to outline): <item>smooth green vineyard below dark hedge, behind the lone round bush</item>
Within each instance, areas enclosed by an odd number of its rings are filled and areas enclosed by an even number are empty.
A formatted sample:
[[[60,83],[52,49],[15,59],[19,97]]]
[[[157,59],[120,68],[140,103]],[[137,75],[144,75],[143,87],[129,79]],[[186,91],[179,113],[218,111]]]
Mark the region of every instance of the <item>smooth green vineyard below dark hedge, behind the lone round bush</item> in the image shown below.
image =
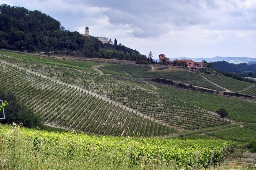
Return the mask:
[[[178,98],[179,96],[186,96],[184,98],[180,98],[183,102],[190,102],[194,106],[201,107],[212,112],[216,112],[219,108],[225,108],[228,111],[228,117],[236,121],[256,123],[256,100],[203,94],[160,85],[158,87],[159,89],[162,89],[164,93],[173,97]]]

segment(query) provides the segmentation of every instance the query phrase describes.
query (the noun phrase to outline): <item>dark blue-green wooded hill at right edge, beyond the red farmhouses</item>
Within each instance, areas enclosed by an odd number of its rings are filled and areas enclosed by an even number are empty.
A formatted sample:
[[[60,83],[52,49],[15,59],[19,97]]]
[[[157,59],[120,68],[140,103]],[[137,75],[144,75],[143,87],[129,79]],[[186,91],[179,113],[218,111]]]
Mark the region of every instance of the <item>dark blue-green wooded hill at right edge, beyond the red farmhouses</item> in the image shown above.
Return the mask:
[[[256,64],[239,63],[233,64],[226,61],[212,62],[213,69],[222,70],[231,73],[238,73],[244,77],[256,78]]]

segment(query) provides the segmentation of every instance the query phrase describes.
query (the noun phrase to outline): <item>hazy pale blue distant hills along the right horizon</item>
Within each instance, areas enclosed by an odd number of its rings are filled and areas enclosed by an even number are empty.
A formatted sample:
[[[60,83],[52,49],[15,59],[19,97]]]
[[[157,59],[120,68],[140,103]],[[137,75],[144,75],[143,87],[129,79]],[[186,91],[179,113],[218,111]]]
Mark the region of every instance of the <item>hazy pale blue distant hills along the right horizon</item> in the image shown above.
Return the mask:
[[[169,57],[168,57],[169,58]],[[212,57],[212,58],[189,58],[189,57],[178,57],[178,58],[170,58],[171,61],[176,59],[190,59],[194,60],[195,62],[202,62],[202,60],[206,60],[207,62],[217,62],[217,61],[226,61],[228,63],[248,63],[248,62],[255,62],[256,58],[249,58],[249,57]]]

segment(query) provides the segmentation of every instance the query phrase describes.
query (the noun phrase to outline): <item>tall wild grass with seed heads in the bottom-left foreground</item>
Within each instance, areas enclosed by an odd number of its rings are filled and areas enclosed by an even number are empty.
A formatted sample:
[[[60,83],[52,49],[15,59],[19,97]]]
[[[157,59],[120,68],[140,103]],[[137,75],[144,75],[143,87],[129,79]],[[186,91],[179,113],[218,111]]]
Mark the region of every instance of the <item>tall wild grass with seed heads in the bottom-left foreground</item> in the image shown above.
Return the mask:
[[[2,126],[2,125],[1,125]],[[127,138],[129,140],[129,138]],[[132,152],[118,149],[77,144],[68,140],[40,143],[22,133],[13,124],[10,130],[1,134],[0,169],[180,169],[175,161],[169,163],[159,159],[151,160],[141,156],[136,164]],[[120,146],[126,142],[120,143]],[[132,146],[131,146],[132,148]],[[137,160],[137,159],[134,159]],[[184,168],[182,168],[184,169]],[[185,169],[190,169],[189,167]]]

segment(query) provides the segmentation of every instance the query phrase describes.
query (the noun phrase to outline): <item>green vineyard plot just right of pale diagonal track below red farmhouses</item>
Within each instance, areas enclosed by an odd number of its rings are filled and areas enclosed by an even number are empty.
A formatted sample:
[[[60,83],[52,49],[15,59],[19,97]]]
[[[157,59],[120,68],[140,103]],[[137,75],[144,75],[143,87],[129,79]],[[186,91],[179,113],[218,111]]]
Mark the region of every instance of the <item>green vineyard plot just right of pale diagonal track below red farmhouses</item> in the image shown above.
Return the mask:
[[[203,75],[205,78],[211,80],[217,85],[220,85],[221,87],[224,87],[228,90],[231,90],[233,92],[239,92],[245,88],[248,88],[254,83],[249,83],[245,81],[236,80],[233,78],[229,78],[227,76],[217,76],[217,75]]]

